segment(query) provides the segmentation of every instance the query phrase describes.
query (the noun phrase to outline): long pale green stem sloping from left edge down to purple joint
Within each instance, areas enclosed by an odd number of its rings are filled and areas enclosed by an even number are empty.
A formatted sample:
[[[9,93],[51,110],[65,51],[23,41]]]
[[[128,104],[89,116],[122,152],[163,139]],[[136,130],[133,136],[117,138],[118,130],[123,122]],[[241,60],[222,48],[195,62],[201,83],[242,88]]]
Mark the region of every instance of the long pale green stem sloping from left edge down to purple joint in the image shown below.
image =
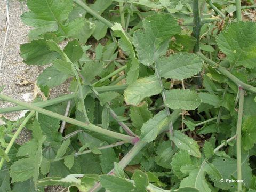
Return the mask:
[[[116,133],[114,131],[109,131],[109,130],[103,129],[101,127],[95,126],[95,125],[93,125],[91,123],[90,124],[86,124],[84,122],[77,121],[76,119],[65,117],[63,115],[60,115],[60,114],[57,114],[57,113],[53,113],[52,111],[36,107],[36,106],[34,106],[34,105],[30,104],[30,103],[25,103],[25,102],[22,102],[22,101],[18,101],[16,99],[10,98],[10,97],[8,97],[6,95],[3,95],[3,94],[0,94],[0,98],[5,100],[5,101],[9,101],[9,102],[15,103],[16,105],[20,105],[20,106],[26,107],[26,108],[28,108],[30,110],[35,110],[38,113],[41,113],[41,114],[44,114],[44,115],[47,115],[47,116],[51,116],[53,118],[57,118],[57,119],[60,119],[62,121],[66,121],[68,123],[77,125],[77,126],[82,127],[84,129],[87,129],[87,130],[90,130],[90,131],[94,131],[94,132],[97,132],[97,133],[101,133],[101,134],[106,135],[106,136],[111,137],[111,138],[115,138],[115,139],[119,139],[119,140],[123,140],[123,141],[128,141],[130,143],[134,143],[134,140],[137,140],[137,138],[135,138],[135,137],[131,137],[129,135],[124,135],[124,134],[121,134],[121,133]]]

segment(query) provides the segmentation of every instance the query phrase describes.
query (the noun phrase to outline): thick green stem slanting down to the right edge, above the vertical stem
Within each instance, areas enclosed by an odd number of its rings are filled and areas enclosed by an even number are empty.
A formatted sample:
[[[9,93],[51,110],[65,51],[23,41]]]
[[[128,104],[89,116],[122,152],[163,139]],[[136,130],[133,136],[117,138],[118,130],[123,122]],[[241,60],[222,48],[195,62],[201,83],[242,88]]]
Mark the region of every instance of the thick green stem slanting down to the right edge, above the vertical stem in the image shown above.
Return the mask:
[[[252,86],[252,85],[248,85],[244,82],[242,82],[240,79],[238,79],[237,77],[235,77],[233,74],[231,74],[225,67],[221,67],[219,66],[217,63],[215,63],[214,61],[210,60],[209,58],[205,57],[203,55],[203,53],[201,52],[197,52],[197,54],[199,55],[199,57],[201,57],[204,61],[206,61],[207,63],[209,63],[212,67],[217,67],[217,70],[222,74],[225,75],[226,77],[228,77],[231,81],[233,81],[237,86],[241,86],[243,89],[249,90],[253,93],[256,93],[256,87]]]

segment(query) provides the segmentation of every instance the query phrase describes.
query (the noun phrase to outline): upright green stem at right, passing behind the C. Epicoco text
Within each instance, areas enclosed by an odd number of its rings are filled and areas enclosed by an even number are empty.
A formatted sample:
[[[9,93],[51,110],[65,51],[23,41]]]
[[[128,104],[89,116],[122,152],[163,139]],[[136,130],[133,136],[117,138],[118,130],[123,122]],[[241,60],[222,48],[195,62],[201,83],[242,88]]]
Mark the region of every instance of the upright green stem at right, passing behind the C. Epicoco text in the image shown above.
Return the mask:
[[[243,109],[244,109],[244,90],[239,87],[239,109],[236,126],[236,162],[237,162],[237,180],[242,180],[242,165],[241,165],[241,129],[243,120]],[[242,183],[237,183],[237,191],[242,191]]]

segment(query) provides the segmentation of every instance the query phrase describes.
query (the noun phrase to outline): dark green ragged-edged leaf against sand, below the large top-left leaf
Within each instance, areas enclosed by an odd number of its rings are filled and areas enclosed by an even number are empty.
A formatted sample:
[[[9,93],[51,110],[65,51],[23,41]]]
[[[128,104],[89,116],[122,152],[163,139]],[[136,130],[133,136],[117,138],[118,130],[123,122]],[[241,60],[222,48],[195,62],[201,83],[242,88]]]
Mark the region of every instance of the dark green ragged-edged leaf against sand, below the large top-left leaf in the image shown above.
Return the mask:
[[[45,41],[53,38],[55,38],[53,34],[46,34],[43,39],[20,45],[20,56],[24,59],[23,62],[28,65],[46,65],[51,63],[52,59],[60,57],[46,45]]]

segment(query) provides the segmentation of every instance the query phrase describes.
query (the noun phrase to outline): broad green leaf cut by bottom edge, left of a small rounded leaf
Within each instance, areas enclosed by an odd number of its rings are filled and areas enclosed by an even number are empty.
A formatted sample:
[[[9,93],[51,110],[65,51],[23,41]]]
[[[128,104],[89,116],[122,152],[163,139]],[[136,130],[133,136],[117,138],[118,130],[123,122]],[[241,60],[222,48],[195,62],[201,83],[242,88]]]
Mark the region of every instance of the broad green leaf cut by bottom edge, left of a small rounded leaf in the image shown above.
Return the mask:
[[[99,180],[102,187],[111,192],[133,191],[135,189],[132,183],[123,178],[101,175]]]

